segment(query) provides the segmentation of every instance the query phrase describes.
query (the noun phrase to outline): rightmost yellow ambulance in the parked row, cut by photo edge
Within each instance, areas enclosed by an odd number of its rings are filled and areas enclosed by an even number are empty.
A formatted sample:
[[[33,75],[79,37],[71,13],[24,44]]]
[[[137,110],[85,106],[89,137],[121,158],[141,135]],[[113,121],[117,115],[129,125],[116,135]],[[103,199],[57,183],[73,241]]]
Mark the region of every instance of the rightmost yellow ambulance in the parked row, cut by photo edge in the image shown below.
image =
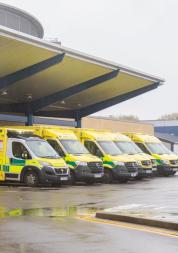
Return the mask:
[[[174,175],[178,170],[178,156],[170,151],[158,138],[141,133],[124,133],[146,154],[156,159],[158,175]]]

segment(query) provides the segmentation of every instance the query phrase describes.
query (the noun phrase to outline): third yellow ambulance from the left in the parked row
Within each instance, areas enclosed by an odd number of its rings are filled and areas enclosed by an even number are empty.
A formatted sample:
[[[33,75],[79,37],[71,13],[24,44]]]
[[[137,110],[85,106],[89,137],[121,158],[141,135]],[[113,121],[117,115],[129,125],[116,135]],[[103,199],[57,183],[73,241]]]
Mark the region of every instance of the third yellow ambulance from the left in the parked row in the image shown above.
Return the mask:
[[[106,132],[79,128],[74,131],[89,152],[102,159],[104,183],[112,183],[115,180],[127,182],[137,176],[136,160],[128,155],[123,155]]]

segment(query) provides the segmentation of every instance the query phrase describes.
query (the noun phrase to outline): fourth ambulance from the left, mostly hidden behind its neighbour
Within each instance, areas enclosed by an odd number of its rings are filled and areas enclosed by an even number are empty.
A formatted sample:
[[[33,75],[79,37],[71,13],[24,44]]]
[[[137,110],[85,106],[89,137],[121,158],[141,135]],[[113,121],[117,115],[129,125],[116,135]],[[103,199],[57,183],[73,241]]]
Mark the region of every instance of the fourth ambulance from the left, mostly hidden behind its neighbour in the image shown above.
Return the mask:
[[[151,155],[143,153],[143,151],[128,136],[121,133],[109,134],[113,142],[123,154],[129,155],[137,161],[137,179],[151,177],[153,175],[153,172],[157,170],[156,159],[153,159]]]

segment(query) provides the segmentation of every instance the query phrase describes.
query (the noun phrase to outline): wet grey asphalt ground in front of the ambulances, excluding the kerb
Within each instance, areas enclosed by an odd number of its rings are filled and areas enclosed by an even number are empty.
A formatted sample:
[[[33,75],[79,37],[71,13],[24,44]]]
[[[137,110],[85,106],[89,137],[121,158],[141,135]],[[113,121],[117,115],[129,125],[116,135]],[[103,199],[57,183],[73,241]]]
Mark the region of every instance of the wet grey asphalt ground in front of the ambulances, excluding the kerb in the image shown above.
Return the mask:
[[[178,176],[61,188],[0,186],[0,253],[177,253],[178,235],[171,232],[85,219],[109,210],[178,221],[177,196]]]

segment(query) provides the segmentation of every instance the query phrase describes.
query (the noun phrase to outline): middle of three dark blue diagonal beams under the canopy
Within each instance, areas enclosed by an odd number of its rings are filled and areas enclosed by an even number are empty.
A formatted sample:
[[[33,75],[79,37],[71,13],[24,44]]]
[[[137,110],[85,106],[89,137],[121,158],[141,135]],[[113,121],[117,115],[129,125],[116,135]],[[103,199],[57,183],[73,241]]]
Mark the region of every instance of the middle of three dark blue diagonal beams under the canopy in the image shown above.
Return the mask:
[[[83,83],[74,85],[70,88],[67,88],[65,90],[56,92],[52,95],[37,99],[36,101],[31,103],[32,111],[36,112],[41,110],[44,107],[47,107],[51,104],[56,103],[57,101],[64,100],[68,97],[71,97],[79,92],[85,91],[89,88],[95,87],[96,85],[99,85],[103,82],[106,82],[108,80],[111,80],[112,78],[115,78],[119,73],[119,70],[113,70],[109,73],[106,73],[102,76],[98,76],[96,78],[90,79],[88,81],[85,81]]]

